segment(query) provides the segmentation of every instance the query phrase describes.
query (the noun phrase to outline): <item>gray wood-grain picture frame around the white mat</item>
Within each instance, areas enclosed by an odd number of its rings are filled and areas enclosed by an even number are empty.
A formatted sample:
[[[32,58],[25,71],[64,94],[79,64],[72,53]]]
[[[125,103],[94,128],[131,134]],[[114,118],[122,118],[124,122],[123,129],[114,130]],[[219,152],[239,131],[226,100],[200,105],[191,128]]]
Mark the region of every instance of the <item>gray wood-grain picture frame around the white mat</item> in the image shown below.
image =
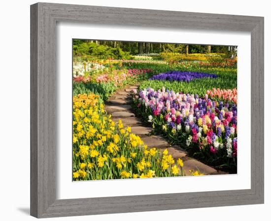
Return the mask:
[[[56,200],[56,24],[62,21],[131,27],[249,31],[251,189]],[[263,17],[54,3],[31,5],[32,216],[47,218],[260,203],[264,203]]]

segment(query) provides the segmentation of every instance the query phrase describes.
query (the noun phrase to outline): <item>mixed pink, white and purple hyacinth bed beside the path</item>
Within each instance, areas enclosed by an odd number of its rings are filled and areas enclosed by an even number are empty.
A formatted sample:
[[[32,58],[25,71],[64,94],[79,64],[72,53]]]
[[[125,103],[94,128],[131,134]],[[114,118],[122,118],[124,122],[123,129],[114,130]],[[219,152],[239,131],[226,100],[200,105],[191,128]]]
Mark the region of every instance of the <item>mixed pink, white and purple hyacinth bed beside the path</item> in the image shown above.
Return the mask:
[[[237,105],[147,88],[134,91],[137,114],[156,133],[211,166],[237,171]]]

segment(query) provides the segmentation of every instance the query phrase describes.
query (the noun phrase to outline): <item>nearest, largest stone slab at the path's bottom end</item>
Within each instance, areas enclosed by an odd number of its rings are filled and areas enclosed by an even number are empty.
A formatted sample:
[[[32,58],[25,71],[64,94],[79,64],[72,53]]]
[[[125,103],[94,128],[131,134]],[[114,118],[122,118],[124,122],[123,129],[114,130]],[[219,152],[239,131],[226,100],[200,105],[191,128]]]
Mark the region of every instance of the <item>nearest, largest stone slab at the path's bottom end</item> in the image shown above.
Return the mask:
[[[183,162],[183,168],[185,170],[186,175],[190,175],[189,172],[190,169],[193,169],[194,172],[199,170],[201,173],[204,173],[205,175],[216,172],[214,168],[207,166],[194,159]]]

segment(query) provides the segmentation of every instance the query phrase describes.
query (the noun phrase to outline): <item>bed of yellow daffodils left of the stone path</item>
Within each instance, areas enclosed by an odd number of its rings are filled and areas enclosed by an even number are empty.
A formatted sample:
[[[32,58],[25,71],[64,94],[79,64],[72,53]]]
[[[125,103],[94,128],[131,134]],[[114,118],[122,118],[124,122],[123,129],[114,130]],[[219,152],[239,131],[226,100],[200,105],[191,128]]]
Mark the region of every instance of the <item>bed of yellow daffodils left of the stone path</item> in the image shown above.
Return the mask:
[[[115,123],[98,95],[73,97],[74,181],[182,176],[182,167],[182,160],[175,162],[167,149],[149,149],[131,127]]]

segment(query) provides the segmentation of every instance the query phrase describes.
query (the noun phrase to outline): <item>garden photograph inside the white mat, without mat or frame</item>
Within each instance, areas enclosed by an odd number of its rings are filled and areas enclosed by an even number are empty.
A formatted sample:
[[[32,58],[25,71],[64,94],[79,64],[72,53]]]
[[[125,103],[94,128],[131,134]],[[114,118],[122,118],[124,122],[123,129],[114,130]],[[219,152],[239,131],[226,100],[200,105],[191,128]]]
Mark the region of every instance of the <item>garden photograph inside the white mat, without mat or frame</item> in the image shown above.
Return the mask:
[[[72,40],[72,180],[237,174],[237,46]]]

